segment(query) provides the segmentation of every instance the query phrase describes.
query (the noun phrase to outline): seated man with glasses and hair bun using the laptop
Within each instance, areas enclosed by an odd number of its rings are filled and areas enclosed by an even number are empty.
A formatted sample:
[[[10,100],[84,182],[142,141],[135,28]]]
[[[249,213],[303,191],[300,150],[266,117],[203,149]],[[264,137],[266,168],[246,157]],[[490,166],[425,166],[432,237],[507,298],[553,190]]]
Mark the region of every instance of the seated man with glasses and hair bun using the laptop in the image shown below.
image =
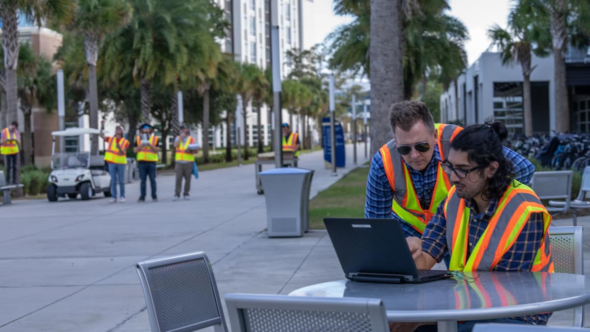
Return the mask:
[[[454,186],[422,238],[407,238],[419,269],[430,269],[450,253],[451,271],[553,272],[548,232],[551,215],[532,189],[511,176],[512,165],[501,144],[506,135],[506,127],[499,122],[474,124],[451,143],[442,168]],[[545,325],[550,315],[485,322]],[[482,322],[458,324],[458,331],[471,331],[474,324]]]

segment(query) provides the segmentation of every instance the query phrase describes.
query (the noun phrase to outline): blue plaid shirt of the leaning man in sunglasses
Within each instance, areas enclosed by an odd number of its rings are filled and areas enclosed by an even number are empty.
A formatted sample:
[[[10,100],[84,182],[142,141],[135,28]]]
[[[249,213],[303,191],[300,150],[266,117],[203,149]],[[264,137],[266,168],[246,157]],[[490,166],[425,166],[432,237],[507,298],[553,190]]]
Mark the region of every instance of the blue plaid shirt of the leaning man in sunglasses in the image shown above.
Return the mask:
[[[530,179],[535,173],[535,165],[529,162],[525,157],[518,153],[504,147],[504,156],[512,161],[514,166],[514,179],[521,183],[530,183]],[[432,190],[437,181],[437,166],[440,162],[440,152],[438,152],[438,145],[434,146],[434,154],[432,160],[428,163],[428,166],[424,172],[412,169],[406,165],[409,169],[414,183],[414,189],[416,195],[424,206],[430,206],[430,200],[432,199]],[[385,175],[385,169],[383,169],[383,159],[381,153],[375,153],[371,162],[371,170],[369,170],[369,177],[367,179],[366,189],[366,200],[365,200],[365,218],[393,218],[401,222],[402,229],[406,236],[421,236],[408,223],[404,222],[391,210],[391,202],[394,199],[394,190],[389,185],[387,176]]]

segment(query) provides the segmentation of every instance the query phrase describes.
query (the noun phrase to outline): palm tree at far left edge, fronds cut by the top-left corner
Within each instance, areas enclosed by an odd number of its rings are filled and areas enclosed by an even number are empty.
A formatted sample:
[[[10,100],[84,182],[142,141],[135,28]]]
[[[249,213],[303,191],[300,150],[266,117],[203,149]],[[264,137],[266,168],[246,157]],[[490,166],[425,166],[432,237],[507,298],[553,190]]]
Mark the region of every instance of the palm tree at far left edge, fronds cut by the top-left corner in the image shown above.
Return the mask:
[[[41,26],[48,18],[67,19],[73,9],[73,0],[3,0],[0,5],[2,20],[2,48],[4,50],[7,121],[17,120],[17,67],[18,67],[18,15]],[[18,170],[17,170],[18,171]]]

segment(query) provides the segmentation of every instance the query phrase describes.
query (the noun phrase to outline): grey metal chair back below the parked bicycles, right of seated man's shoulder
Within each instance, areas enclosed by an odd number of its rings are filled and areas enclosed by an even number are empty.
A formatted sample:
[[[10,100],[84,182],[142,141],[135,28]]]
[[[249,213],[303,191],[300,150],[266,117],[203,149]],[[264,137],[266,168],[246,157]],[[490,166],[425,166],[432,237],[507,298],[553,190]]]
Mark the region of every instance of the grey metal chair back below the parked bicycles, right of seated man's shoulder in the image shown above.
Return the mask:
[[[540,199],[564,199],[564,211],[568,211],[572,196],[572,177],[571,170],[535,172],[530,188],[535,190]]]

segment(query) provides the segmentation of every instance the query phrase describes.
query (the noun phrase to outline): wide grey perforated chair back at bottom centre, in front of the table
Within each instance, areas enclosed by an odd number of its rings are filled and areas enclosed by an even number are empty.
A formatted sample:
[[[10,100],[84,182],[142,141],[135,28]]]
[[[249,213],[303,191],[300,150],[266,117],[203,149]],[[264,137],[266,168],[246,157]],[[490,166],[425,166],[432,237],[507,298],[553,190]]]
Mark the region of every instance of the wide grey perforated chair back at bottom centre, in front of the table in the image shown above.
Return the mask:
[[[231,329],[245,331],[389,331],[378,298],[228,294]]]

